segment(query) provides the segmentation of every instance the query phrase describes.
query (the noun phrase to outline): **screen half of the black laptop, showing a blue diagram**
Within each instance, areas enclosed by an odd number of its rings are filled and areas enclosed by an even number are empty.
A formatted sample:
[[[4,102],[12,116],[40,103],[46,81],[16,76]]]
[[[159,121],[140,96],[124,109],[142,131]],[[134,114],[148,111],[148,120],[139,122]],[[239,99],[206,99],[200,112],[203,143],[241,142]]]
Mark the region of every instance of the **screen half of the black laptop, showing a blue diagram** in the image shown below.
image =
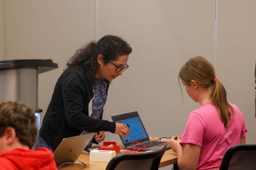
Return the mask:
[[[113,122],[124,123],[126,126],[130,128],[130,135],[128,137],[126,135],[124,135],[125,138],[120,137],[125,146],[130,145],[130,142],[133,140],[139,142],[149,140],[148,134],[140,120],[138,112],[116,115],[112,116],[111,118]]]

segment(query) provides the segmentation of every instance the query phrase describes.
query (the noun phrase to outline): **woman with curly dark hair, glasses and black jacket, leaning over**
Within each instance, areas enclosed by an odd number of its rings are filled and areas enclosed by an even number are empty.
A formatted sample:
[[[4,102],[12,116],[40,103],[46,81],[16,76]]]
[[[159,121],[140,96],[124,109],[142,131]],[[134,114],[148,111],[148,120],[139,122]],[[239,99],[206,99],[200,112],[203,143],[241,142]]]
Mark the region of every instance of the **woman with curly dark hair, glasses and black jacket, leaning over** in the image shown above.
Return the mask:
[[[129,67],[131,52],[126,41],[113,35],[76,51],[55,85],[35,149],[46,147],[54,152],[63,138],[92,132],[97,132],[97,140],[93,138],[87,147],[103,141],[104,131],[129,135],[126,125],[102,120],[102,114],[109,83]]]

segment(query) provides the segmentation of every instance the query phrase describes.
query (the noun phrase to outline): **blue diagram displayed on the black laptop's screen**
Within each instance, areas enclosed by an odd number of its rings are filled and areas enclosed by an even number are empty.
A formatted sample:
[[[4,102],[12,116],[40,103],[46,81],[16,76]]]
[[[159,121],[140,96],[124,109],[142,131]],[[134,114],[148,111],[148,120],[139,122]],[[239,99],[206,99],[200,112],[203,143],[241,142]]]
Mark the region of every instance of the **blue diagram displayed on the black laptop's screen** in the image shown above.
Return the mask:
[[[129,127],[130,129],[130,140],[143,138],[143,134],[141,133],[140,127],[135,119],[130,119],[127,121],[123,121],[123,123]]]

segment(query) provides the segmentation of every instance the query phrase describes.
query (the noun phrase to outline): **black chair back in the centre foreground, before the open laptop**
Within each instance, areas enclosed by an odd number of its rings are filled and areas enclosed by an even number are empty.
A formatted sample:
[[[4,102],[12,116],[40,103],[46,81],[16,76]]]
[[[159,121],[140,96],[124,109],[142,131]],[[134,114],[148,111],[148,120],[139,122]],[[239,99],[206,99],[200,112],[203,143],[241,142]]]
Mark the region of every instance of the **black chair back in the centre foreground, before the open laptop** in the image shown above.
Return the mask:
[[[155,170],[158,169],[160,160],[164,155],[166,146],[145,153],[125,153],[112,158],[106,170]]]

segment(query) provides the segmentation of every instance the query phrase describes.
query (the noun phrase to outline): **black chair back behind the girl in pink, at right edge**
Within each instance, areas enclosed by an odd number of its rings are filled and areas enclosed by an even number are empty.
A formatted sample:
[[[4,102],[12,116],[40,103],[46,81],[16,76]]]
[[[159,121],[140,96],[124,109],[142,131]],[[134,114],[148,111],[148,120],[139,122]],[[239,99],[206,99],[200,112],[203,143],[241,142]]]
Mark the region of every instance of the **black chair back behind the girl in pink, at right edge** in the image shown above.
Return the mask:
[[[220,170],[256,170],[256,144],[237,144],[225,153]]]

